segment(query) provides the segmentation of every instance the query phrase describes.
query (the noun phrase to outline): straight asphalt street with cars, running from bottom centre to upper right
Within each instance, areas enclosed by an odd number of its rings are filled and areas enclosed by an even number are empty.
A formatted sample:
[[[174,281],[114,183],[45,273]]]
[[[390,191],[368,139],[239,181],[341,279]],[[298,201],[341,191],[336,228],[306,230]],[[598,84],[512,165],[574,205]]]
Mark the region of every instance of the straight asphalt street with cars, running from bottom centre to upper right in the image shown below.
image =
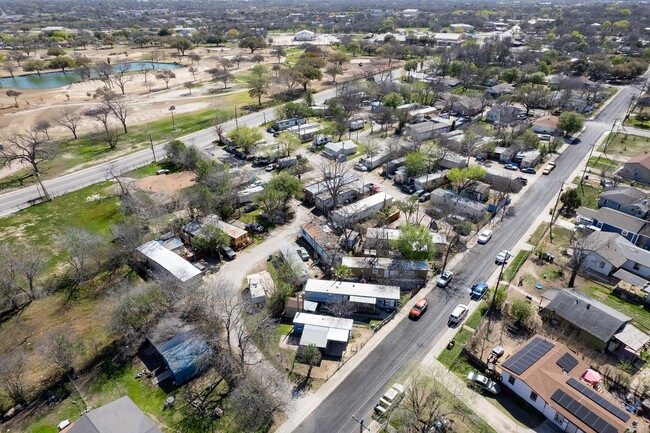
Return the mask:
[[[357,368],[294,430],[296,433],[352,433],[359,424],[352,419],[369,419],[374,405],[393,376],[418,365],[447,327],[449,314],[459,303],[469,303],[469,287],[486,281],[495,271],[495,256],[512,249],[535,219],[555,204],[563,181],[569,180],[591,147],[611,129],[627,109],[636,90],[623,89],[578,136],[580,143],[569,146],[557,159],[557,167],[522,191],[508,216],[486,245],[477,245],[453,269],[454,280],[447,289],[434,289],[427,300],[429,311],[419,320],[403,320]]]

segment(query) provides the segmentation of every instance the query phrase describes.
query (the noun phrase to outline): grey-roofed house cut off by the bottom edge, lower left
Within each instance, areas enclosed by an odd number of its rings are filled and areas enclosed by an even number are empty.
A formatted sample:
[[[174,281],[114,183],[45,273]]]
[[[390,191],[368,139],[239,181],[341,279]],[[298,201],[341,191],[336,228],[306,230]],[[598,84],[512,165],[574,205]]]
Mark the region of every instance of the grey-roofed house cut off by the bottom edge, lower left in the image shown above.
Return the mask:
[[[162,433],[128,396],[81,415],[66,433]]]

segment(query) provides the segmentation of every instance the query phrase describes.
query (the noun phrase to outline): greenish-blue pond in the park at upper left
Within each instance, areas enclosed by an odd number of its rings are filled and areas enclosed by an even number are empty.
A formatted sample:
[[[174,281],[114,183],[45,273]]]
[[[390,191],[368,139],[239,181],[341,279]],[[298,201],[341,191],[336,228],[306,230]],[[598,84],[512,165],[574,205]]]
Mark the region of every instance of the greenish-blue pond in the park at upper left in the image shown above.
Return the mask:
[[[177,69],[181,65],[176,63],[159,63],[159,62],[131,62],[129,71],[142,71],[145,68],[151,69],[152,66],[156,70],[164,69]],[[9,87],[14,89],[53,89],[55,87],[66,86],[70,83],[81,81],[81,77],[74,71],[63,73],[47,72],[29,75],[20,75],[16,77],[0,78],[0,87]]]

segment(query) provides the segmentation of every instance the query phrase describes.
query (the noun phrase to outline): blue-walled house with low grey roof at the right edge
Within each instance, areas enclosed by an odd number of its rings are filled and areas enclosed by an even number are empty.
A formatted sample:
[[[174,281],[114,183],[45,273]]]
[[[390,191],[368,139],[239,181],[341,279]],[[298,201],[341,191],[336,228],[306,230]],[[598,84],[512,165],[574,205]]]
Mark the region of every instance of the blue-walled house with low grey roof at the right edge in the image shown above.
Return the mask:
[[[591,220],[591,225],[601,231],[618,233],[634,245],[645,249],[650,248],[650,222],[648,221],[608,207],[601,207],[595,213],[591,209],[580,207],[576,213],[583,219]]]

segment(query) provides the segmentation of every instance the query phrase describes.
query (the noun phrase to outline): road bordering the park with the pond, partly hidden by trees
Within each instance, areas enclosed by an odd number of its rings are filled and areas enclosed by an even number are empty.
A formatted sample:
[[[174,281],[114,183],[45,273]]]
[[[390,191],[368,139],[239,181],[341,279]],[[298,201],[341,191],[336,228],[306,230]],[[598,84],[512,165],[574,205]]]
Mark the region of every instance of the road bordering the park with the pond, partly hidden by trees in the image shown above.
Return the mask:
[[[393,77],[398,78],[401,76],[402,71],[396,69],[393,71]],[[314,103],[323,104],[325,100],[336,95],[336,88],[327,89],[322,92],[314,94]],[[229,131],[234,129],[237,125],[247,126],[260,126],[264,121],[270,121],[275,118],[275,108],[269,108],[257,113],[251,113],[246,116],[239,117],[236,121],[231,120],[224,124],[225,130]],[[203,150],[207,149],[217,139],[217,134],[214,128],[204,129],[193,134],[186,135],[180,138],[185,144],[196,146]],[[154,146],[156,157],[161,159],[164,157],[164,144]],[[153,154],[151,149],[141,150],[129,155],[125,155],[119,159],[111,162],[100,164],[84,170],[79,170],[65,176],[50,179],[44,182],[45,188],[52,196],[59,196],[67,192],[75,191],[94,183],[103,182],[110,178],[109,170],[113,167],[113,172],[123,173],[132,170],[133,168],[153,162]],[[28,186],[18,190],[10,191],[0,194],[0,216],[8,215],[17,210],[27,207],[30,200],[38,199],[40,197],[39,191],[36,186]]]

